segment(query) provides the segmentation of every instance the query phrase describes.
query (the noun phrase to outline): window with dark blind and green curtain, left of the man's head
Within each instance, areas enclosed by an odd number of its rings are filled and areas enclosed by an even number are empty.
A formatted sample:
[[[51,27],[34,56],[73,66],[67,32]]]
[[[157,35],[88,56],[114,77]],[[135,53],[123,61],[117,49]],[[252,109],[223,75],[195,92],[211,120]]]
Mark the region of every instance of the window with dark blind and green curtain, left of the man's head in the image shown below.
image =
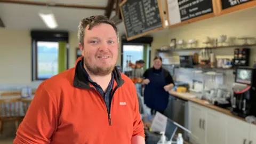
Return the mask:
[[[45,80],[68,69],[68,32],[31,30],[31,81]]]

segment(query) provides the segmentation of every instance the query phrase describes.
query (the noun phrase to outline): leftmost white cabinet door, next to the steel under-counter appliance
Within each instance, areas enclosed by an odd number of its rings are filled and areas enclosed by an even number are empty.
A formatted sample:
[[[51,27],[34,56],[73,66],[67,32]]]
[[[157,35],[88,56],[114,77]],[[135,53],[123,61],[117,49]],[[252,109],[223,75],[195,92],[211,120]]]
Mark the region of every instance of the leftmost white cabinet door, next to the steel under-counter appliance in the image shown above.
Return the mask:
[[[205,119],[204,108],[194,103],[189,103],[189,129],[191,143],[204,143],[205,132],[203,130],[203,119]]]

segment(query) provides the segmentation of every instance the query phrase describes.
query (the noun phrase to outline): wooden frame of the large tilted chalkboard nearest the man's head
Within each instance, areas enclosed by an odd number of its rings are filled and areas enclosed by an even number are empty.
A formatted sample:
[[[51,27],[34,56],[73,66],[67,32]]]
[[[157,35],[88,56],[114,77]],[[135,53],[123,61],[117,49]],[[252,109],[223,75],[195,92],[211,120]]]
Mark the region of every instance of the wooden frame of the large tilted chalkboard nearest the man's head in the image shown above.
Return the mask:
[[[129,1],[129,0],[128,0],[128,1]],[[121,2],[121,3],[119,4],[119,8],[120,8],[119,10],[120,10],[120,12],[121,12],[121,16],[122,16],[123,22],[124,22],[124,14],[123,14],[122,6],[123,6],[126,2],[127,2],[127,0],[124,0],[123,2]],[[126,35],[127,41],[131,41],[132,39],[135,39],[135,38],[138,38],[138,37],[142,37],[142,36],[145,36],[145,35],[147,35],[147,34],[154,33],[155,31],[162,30],[162,29],[166,28],[166,26],[165,26],[165,20],[164,20],[164,11],[163,11],[163,7],[162,7],[162,2],[161,2],[161,0],[157,0],[157,3],[158,3],[158,9],[159,9],[159,14],[160,14],[161,22],[162,22],[162,27],[159,27],[159,28],[155,28],[155,29],[146,31],[145,33],[142,33],[142,34],[139,34],[139,35],[135,35],[135,36],[128,37],[127,31],[126,31],[125,22],[124,22],[125,35]]]

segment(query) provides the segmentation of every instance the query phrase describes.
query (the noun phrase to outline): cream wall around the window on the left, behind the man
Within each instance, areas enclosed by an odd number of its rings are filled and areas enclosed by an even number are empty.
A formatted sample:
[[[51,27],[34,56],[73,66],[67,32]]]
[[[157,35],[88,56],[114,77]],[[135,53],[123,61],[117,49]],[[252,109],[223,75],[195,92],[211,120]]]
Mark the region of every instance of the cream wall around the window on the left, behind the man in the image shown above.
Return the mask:
[[[69,33],[69,68],[75,66],[75,48],[78,47],[78,43],[77,33]],[[121,57],[118,58],[117,64],[119,65],[120,62]],[[30,31],[0,28],[0,84],[29,83],[31,83]]]

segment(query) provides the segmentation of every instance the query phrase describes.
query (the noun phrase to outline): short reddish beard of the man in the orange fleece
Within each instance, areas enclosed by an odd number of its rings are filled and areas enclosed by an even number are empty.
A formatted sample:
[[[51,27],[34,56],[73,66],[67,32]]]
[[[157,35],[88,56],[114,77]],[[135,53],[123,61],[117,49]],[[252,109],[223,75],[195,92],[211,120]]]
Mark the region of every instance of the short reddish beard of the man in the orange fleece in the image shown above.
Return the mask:
[[[112,71],[115,69],[115,65],[114,66],[110,65],[108,67],[96,66],[95,64],[87,61],[86,58],[84,58],[84,65],[90,71],[90,73],[92,73],[93,75],[98,75],[98,76],[106,76],[106,75],[112,73]]]

